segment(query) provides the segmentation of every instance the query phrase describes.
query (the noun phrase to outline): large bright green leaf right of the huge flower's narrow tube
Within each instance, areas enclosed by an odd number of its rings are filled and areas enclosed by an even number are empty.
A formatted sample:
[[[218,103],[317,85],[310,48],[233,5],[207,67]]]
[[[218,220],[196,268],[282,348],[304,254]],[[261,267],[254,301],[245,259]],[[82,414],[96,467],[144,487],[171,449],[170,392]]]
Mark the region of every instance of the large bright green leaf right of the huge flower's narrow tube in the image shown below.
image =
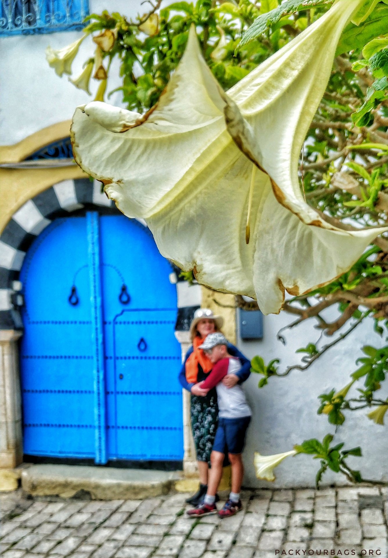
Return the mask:
[[[387,32],[387,18],[388,6],[380,3],[359,27],[350,23],[341,35],[336,56],[350,50],[362,49],[367,42],[375,39],[375,37],[385,35]]]

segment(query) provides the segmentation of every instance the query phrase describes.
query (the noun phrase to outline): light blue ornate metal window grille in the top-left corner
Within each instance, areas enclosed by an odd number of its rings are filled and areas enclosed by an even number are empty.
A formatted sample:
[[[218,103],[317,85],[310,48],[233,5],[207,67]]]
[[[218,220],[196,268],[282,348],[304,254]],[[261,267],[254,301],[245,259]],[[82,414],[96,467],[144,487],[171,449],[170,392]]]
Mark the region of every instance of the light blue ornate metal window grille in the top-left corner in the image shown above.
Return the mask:
[[[0,35],[81,30],[88,15],[89,0],[0,0]]]

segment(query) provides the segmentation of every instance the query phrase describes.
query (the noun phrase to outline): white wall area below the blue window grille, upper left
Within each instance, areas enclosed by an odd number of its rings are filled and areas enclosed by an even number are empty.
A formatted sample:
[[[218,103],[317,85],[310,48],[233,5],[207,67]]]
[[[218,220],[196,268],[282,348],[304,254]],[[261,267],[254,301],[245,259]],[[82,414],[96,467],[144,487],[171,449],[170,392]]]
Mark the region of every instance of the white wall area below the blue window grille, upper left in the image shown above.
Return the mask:
[[[166,0],[164,2],[167,4]],[[171,2],[170,2],[171,3]],[[124,13],[128,18],[143,13],[140,0],[90,0],[90,13],[103,9]],[[76,89],[68,76],[59,78],[45,58],[47,45],[61,49],[79,39],[77,31],[50,35],[16,35],[0,37],[0,145],[16,143],[33,132],[72,117],[75,107],[88,103],[93,97]],[[81,71],[83,62],[93,55],[94,43],[86,39],[72,66],[74,75]],[[117,80],[113,79],[114,74]],[[111,68],[109,90],[120,85],[119,64]],[[95,93],[98,84],[94,83]],[[110,103],[120,105],[122,95],[114,93]]]

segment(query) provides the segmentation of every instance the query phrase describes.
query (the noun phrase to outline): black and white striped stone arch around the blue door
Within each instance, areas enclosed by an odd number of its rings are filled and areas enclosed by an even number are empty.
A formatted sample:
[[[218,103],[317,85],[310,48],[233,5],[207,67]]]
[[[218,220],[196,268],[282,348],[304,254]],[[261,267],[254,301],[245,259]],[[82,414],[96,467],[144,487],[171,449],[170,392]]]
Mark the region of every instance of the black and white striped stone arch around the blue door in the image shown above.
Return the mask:
[[[19,311],[22,300],[19,273],[32,241],[57,217],[69,216],[84,208],[119,213],[113,201],[101,193],[100,182],[89,179],[64,180],[26,201],[12,215],[0,235],[0,329],[22,330]],[[143,225],[146,223],[139,219]],[[177,272],[170,281],[177,285],[177,331],[187,331],[194,311],[201,304],[199,285],[188,285]],[[18,294],[19,293],[19,294]]]

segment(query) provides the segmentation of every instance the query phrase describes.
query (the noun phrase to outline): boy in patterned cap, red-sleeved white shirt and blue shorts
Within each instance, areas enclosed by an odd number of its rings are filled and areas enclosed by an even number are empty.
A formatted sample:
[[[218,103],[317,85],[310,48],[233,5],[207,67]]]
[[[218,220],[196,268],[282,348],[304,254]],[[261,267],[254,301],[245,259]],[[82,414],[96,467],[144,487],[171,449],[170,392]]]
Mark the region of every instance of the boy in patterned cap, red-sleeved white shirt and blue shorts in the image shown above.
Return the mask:
[[[227,388],[221,383],[226,374],[235,374],[241,367],[239,359],[227,352],[227,339],[222,333],[211,333],[200,345],[214,364],[205,381],[198,384],[202,389],[216,387],[219,406],[219,424],[211,453],[211,469],[207,493],[203,504],[190,509],[190,517],[199,517],[217,512],[215,504],[217,488],[222,477],[222,463],[227,452],[232,469],[232,491],[225,506],[219,511],[220,517],[229,517],[242,509],[240,489],[243,482],[244,466],[241,453],[244,449],[246,429],[251,419],[251,410],[246,402],[241,386]]]

